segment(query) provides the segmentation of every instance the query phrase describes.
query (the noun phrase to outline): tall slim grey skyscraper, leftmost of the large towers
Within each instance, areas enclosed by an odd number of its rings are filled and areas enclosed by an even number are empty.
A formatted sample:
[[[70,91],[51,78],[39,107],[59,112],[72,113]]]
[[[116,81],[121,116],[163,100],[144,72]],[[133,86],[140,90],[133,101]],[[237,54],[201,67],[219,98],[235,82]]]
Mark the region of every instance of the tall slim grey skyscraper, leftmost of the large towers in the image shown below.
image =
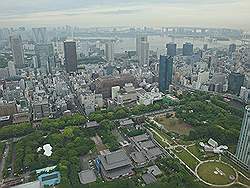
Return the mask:
[[[21,36],[10,36],[10,45],[16,67],[22,68],[24,66],[24,52]]]

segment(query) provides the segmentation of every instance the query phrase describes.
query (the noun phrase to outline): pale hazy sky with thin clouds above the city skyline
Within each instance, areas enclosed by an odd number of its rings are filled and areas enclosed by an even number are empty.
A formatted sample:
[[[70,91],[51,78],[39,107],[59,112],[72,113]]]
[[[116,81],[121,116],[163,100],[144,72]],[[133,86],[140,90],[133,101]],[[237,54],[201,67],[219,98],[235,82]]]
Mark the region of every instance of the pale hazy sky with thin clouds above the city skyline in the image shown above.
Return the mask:
[[[65,24],[250,31],[250,0],[0,0],[0,27]]]

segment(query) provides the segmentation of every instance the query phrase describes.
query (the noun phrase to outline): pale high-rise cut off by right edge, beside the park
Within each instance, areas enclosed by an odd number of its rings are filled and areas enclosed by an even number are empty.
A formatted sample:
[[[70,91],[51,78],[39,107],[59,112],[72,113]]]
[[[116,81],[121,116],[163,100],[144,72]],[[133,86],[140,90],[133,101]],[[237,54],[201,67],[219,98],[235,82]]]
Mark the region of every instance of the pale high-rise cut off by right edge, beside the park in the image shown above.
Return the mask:
[[[240,137],[236,149],[236,157],[250,171],[250,106],[246,106],[242,121]]]

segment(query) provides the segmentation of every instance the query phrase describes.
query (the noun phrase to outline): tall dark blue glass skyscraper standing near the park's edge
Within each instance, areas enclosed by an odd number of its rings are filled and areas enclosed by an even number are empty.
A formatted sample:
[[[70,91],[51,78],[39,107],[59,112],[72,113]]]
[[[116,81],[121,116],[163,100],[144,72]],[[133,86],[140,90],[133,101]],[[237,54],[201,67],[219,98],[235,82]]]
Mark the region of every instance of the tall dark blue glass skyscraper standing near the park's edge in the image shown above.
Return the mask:
[[[171,56],[160,56],[159,67],[159,89],[165,92],[169,89],[173,77],[173,58]]]

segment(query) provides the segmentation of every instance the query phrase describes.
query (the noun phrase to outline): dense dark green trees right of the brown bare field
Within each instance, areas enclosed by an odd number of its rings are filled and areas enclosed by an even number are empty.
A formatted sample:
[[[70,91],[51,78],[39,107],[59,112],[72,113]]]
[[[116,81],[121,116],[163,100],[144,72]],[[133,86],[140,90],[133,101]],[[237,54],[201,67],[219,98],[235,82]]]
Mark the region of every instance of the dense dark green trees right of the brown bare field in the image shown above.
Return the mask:
[[[243,111],[232,107],[223,98],[205,93],[186,93],[176,116],[193,126],[189,139],[214,138],[222,144],[235,145]]]

